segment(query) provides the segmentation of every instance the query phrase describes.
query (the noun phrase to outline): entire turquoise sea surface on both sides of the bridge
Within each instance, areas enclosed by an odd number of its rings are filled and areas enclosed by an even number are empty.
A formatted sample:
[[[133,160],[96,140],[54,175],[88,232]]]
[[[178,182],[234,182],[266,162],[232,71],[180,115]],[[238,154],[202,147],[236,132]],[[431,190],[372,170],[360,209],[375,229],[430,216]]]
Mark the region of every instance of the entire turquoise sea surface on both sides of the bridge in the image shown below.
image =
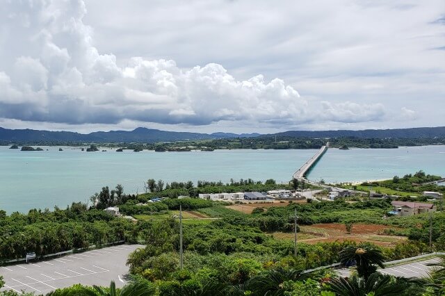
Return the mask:
[[[144,192],[147,179],[223,181],[231,178],[287,182],[315,149],[215,150],[191,152],[86,152],[78,147],[20,151],[0,147],[0,209],[26,213],[30,208],[65,208],[88,202],[102,186]],[[105,148],[106,149],[106,148]],[[102,149],[101,149],[102,150]],[[326,182],[365,181],[424,170],[445,176],[445,146],[399,149],[328,149],[309,173]]]

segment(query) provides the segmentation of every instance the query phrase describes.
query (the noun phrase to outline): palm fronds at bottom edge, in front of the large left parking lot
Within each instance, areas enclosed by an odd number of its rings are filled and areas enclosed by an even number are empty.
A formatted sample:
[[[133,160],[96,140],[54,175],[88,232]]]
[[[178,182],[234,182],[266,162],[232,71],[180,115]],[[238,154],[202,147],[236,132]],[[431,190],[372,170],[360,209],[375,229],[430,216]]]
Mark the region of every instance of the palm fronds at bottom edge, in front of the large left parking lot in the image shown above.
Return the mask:
[[[106,289],[99,286],[93,286],[94,289],[86,287],[76,291],[79,296],[152,296],[155,293],[155,288],[149,286],[147,283],[135,281],[124,286],[121,290],[116,289],[114,281],[111,281],[110,288]]]

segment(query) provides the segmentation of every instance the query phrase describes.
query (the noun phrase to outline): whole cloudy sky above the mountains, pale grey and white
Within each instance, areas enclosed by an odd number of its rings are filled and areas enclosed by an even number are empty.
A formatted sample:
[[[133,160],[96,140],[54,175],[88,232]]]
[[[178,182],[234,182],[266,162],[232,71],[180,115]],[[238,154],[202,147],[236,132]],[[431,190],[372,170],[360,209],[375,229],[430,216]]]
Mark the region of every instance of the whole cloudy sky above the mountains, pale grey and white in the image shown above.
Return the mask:
[[[445,126],[443,0],[0,0],[0,126]]]

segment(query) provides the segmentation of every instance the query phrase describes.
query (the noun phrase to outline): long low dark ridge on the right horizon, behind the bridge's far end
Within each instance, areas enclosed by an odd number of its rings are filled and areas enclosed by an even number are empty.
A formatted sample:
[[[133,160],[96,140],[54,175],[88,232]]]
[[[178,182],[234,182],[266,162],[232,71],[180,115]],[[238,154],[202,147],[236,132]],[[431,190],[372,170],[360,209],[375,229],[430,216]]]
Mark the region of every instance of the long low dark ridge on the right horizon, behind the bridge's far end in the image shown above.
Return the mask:
[[[275,135],[296,138],[435,138],[445,137],[445,126],[412,129],[365,129],[362,131],[285,131]]]

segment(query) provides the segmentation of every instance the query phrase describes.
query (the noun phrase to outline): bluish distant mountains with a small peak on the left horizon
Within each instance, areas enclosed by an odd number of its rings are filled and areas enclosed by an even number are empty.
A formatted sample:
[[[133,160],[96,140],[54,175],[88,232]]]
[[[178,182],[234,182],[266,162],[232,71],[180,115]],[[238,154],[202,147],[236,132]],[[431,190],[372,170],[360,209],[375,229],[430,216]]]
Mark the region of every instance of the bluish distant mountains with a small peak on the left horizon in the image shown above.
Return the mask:
[[[259,133],[188,133],[160,131],[138,127],[133,131],[96,131],[83,134],[71,131],[36,131],[33,129],[3,129],[0,141],[6,142],[169,142],[178,140],[201,140],[217,138],[247,138]]]

